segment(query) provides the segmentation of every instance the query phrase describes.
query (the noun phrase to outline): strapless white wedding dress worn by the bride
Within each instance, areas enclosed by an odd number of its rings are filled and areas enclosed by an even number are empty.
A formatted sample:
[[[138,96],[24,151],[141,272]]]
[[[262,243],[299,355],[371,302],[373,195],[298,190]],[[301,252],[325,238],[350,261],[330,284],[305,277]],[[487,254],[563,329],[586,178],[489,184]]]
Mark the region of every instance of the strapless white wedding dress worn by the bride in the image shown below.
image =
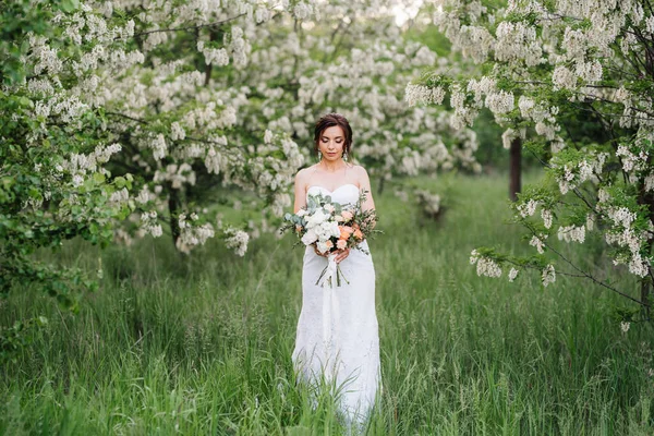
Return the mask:
[[[311,186],[308,195],[331,195],[332,202],[354,204],[359,187],[344,184],[330,192]],[[360,246],[368,250],[366,241]],[[302,312],[293,350],[299,376],[310,384],[323,379],[335,384],[340,410],[350,422],[363,422],[380,388],[379,334],[375,313],[375,267],[370,254],[351,249],[340,269],[340,287],[316,284],[327,258],[313,246],[304,253]]]

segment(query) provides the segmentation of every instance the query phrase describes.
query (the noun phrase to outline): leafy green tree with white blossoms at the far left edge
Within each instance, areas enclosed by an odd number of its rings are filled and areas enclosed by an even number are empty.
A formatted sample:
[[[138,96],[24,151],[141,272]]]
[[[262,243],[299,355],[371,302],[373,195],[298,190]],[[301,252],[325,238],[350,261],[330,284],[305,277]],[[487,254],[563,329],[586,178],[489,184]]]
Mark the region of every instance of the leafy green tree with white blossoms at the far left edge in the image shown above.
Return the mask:
[[[0,12],[0,292],[34,284],[73,308],[73,291],[93,282],[31,255],[75,237],[106,245],[112,222],[133,208],[132,177],[105,169],[121,145],[100,129],[102,114],[81,99],[93,76],[78,68],[96,35],[75,44],[58,24],[75,8],[71,1],[15,1]],[[118,24],[105,31],[117,47],[131,32]]]

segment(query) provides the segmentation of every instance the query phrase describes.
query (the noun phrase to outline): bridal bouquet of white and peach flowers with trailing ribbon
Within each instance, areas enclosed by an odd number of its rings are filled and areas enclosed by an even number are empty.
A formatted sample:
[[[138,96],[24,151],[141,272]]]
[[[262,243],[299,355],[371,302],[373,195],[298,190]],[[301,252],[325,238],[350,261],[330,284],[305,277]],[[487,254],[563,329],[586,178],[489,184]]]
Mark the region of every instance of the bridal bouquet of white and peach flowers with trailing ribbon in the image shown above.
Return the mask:
[[[343,207],[340,203],[332,202],[329,195],[308,195],[305,207],[296,214],[284,215],[286,225],[280,229],[281,232],[292,229],[304,245],[314,245],[319,253],[328,254],[329,263],[320,272],[316,284],[329,284],[334,288],[334,281],[336,286],[341,286],[341,278],[348,282],[340,266],[336,264],[338,251],[353,247],[370,254],[359,243],[379,230],[373,230],[377,219],[375,210],[362,209],[365,198],[366,191],[363,191],[356,204]]]

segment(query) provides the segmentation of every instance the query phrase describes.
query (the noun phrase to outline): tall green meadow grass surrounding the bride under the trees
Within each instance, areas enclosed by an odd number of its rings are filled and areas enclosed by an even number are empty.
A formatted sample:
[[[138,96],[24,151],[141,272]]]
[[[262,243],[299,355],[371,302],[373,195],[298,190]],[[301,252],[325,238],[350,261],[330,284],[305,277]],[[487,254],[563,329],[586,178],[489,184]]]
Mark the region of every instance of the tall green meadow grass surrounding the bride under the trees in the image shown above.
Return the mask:
[[[470,265],[479,245],[530,252],[505,223],[505,179],[422,180],[447,192],[440,222],[416,218],[390,187],[375,198],[384,392],[368,434],[654,433],[652,327],[622,335],[613,314],[627,302],[579,279],[543,288],[521,272],[509,283]],[[28,289],[0,302],[0,326],[49,318],[1,368],[0,433],[341,434],[332,400],[313,411],[295,387],[303,250],[292,243],[266,235],[240,258],[211,242],[186,263],[168,240],[113,246],[75,316]],[[567,253],[633,288],[588,245]],[[90,270],[98,257],[76,243],[57,254]]]

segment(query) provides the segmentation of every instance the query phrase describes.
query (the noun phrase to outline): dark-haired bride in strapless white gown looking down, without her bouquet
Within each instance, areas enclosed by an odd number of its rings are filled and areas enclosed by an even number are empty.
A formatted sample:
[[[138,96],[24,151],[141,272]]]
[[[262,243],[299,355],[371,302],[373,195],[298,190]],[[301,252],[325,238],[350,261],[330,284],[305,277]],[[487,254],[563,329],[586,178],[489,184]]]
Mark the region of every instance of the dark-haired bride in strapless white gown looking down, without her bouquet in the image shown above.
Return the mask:
[[[314,142],[319,160],[295,175],[294,211],[306,205],[308,195],[315,194],[353,205],[363,190],[367,191],[363,210],[374,209],[367,172],[348,162],[352,144],[348,120],[338,113],[320,118]],[[370,253],[365,240],[360,246]],[[346,419],[362,423],[380,388],[375,268],[371,254],[356,249],[339,251],[336,262],[349,283],[341,280],[340,287],[316,286],[328,261],[314,245],[306,247],[302,312],[292,359],[304,382],[317,386],[326,380],[336,386]]]

